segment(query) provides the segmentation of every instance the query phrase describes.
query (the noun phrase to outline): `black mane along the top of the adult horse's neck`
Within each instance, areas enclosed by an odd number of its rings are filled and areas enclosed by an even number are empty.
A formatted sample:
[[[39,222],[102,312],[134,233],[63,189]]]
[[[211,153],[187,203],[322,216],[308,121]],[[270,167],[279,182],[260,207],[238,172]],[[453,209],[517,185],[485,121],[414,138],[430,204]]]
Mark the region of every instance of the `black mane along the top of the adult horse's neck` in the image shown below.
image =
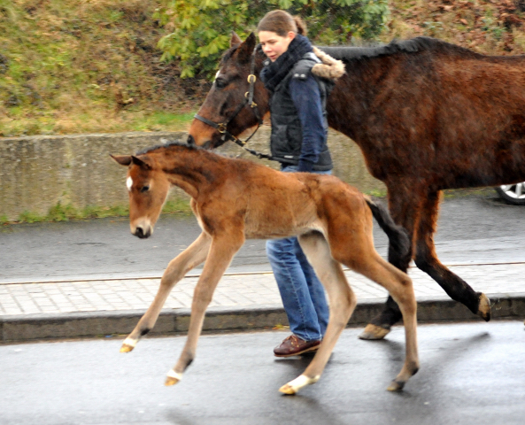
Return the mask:
[[[415,37],[403,41],[392,40],[389,44],[383,44],[376,47],[341,46],[320,47],[319,49],[328,53],[332,58],[346,61],[363,58],[378,58],[380,56],[395,55],[398,53],[415,53],[424,50],[443,51],[448,54],[460,55],[462,57],[483,57],[483,55],[475,53],[472,50],[431,37]]]

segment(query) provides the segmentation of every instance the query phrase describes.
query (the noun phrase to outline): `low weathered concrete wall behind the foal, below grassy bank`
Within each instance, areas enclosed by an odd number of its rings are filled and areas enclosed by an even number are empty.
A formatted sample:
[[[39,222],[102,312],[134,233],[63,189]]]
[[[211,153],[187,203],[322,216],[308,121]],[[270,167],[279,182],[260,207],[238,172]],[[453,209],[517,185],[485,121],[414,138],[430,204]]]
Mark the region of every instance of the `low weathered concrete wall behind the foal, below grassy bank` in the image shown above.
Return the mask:
[[[60,202],[77,208],[88,205],[127,204],[125,169],[109,154],[134,153],[165,143],[186,140],[184,133],[122,133],[91,135],[41,135],[0,138],[0,217],[16,220],[25,211],[45,214]],[[267,151],[269,128],[259,129],[251,149]],[[363,191],[384,190],[368,174],[358,146],[335,132],[328,144],[335,160],[334,174]],[[234,143],[220,148],[228,155],[251,158],[269,166]],[[185,197],[175,190],[172,197]]]

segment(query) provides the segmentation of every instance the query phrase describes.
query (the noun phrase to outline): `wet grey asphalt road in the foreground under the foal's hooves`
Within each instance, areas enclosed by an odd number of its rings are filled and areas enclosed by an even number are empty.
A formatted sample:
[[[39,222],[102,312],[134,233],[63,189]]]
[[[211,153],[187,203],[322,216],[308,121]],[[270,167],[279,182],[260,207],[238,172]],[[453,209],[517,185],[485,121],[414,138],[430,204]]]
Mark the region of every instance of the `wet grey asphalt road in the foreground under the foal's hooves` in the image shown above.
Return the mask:
[[[184,336],[0,346],[3,425],[518,425],[525,418],[522,321],[419,327],[421,369],[386,390],[403,328],[361,341],[346,329],[319,383],[278,392],[309,359],[275,359],[282,332],[201,336],[181,383],[163,385]]]

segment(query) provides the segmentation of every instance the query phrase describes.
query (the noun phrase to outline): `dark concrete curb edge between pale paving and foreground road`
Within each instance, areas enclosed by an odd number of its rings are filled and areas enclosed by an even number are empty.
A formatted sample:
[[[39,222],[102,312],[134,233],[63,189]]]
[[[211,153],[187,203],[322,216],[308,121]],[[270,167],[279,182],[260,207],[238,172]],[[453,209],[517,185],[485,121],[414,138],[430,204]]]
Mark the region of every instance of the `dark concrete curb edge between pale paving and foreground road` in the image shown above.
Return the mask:
[[[524,319],[525,293],[487,294],[492,305],[492,319]],[[348,326],[363,326],[379,313],[382,302],[360,302]],[[0,317],[0,342],[16,343],[29,340],[97,337],[129,333],[145,310],[24,314]],[[189,309],[176,309],[160,314],[151,334],[184,334],[188,331]],[[481,321],[464,305],[448,298],[418,299],[418,321]],[[286,314],[280,305],[258,305],[254,308],[210,308],[206,313],[205,332],[235,332],[273,328],[287,324]]]

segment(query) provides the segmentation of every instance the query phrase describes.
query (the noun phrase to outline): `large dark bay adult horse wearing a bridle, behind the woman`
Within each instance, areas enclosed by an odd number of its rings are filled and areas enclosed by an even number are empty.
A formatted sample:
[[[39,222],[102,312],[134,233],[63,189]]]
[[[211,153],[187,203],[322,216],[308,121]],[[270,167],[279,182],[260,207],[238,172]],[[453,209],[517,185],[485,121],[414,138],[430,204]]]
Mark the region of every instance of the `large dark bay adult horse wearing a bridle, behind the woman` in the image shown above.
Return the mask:
[[[268,113],[255,35],[242,42],[234,34],[230,44],[197,112],[209,122],[193,120],[188,143],[217,147]],[[412,237],[411,258],[489,321],[489,299],[441,264],[433,235],[441,190],[525,180],[525,57],[483,56],[428,37],[320,50],[346,70],[328,97],[328,124],[358,143],[370,173],[387,186],[390,214]],[[256,105],[244,101],[250,89]],[[410,258],[390,250],[389,260],[406,271]],[[400,317],[389,298],[361,337],[382,338]]]

